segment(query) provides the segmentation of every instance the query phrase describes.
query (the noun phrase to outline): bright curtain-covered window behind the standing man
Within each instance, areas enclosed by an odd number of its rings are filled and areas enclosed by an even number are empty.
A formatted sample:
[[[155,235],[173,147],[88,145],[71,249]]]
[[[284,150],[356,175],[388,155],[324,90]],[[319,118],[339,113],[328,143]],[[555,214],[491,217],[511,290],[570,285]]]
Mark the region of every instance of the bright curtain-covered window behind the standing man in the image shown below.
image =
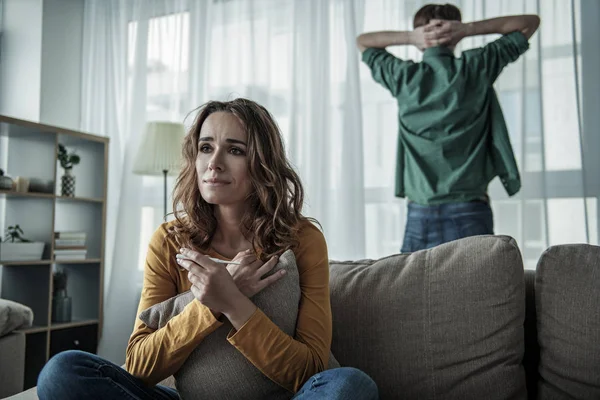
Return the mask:
[[[528,268],[535,268],[548,244],[585,241],[573,32],[570,18],[558,18],[571,16],[572,10],[570,2],[551,3],[549,7],[544,3],[541,17],[553,23],[541,25],[541,32],[531,41],[531,49],[503,71],[496,85],[521,170],[523,189],[519,195],[508,199],[498,180],[493,182],[490,192],[495,199],[495,231],[518,240]],[[420,5],[404,2],[394,6],[385,0],[371,0],[365,9],[364,29],[409,30],[412,13]],[[469,0],[461,6],[464,20],[535,12],[537,7],[532,0],[512,3]],[[398,21],[401,21],[400,25]],[[576,46],[579,46],[579,1],[575,1],[575,24]],[[494,39],[468,38],[460,47],[482,46]],[[420,54],[408,46],[388,50],[400,58],[420,59]],[[541,63],[539,57],[542,57]],[[580,68],[581,57],[576,61]],[[404,202],[391,197],[397,116],[395,100],[383,87],[373,84],[366,66],[361,67],[361,90],[368,202],[367,257],[375,258],[398,252],[403,237]],[[587,202],[588,226],[594,227],[591,231],[596,232],[595,200],[588,199]],[[590,239],[595,237],[592,236]]]

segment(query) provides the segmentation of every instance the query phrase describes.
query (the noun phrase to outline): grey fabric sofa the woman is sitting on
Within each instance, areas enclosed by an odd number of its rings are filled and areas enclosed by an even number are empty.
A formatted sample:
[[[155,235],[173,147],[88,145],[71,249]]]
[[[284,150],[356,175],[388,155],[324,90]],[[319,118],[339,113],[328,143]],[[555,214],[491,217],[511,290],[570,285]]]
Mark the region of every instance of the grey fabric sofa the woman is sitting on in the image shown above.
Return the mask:
[[[332,352],[381,399],[600,399],[599,288],[600,247],[505,236],[332,261]]]

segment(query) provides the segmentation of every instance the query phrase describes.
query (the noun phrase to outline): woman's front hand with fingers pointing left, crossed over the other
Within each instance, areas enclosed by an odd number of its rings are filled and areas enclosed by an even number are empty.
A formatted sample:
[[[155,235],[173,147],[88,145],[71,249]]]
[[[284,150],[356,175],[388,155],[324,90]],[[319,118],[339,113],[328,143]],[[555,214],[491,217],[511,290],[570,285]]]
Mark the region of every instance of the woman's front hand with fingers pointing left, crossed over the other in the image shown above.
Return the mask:
[[[194,297],[215,313],[234,312],[245,296],[227,269],[197,251],[181,249],[180,253],[185,258],[177,258],[177,263],[188,271]]]

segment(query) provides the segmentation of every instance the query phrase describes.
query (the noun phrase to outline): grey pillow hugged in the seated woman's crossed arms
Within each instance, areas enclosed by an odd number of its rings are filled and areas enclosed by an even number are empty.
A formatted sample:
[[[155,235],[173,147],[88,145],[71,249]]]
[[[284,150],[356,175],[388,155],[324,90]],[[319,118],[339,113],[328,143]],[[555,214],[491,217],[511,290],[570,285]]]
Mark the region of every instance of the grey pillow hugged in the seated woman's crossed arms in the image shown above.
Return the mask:
[[[296,258],[291,250],[279,258],[272,272],[285,269],[284,278],[265,288],[252,301],[282,331],[294,336],[300,279]],[[155,304],[139,318],[152,329],[162,328],[194,299],[190,291]],[[183,399],[290,399],[293,394],[271,381],[227,341],[232,329],[227,321],[211,333],[190,354],[175,373],[175,386]],[[329,368],[339,367],[329,356]]]

